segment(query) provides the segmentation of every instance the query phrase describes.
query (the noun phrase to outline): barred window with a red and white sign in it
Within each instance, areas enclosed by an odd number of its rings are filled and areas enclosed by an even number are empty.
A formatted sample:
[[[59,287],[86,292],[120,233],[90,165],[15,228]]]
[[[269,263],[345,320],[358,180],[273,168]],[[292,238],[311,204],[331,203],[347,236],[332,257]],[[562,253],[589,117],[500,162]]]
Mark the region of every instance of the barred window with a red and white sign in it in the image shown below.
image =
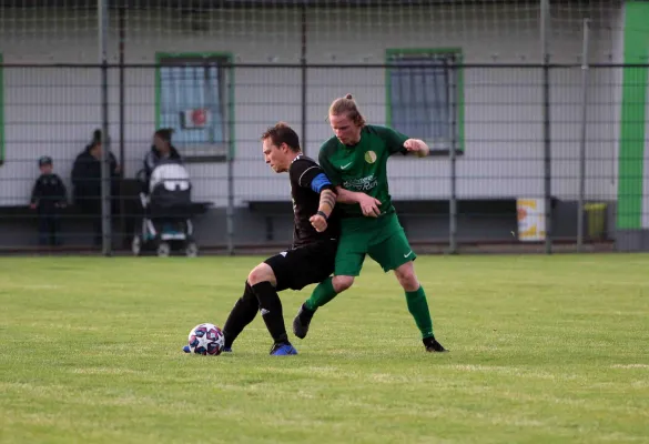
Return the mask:
[[[231,54],[156,57],[155,127],[173,128],[173,144],[189,161],[234,155],[234,79]]]

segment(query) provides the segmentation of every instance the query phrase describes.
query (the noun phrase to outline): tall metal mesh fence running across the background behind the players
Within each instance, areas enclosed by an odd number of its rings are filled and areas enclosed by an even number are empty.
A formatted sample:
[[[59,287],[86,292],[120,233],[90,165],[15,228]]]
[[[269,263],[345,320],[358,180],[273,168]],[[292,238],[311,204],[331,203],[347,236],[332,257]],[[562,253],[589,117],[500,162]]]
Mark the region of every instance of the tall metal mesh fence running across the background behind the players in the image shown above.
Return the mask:
[[[622,60],[613,48],[620,2],[150,3],[52,1],[51,17],[36,4],[0,17],[1,47],[13,50],[11,60],[0,54],[1,250],[52,242],[50,220],[30,208],[42,155],[67,186],[67,206],[53,210],[57,248],[132,249],[148,230],[143,160],[165,127],[191,176],[201,250],[286,246],[287,178],[264,164],[260,135],[286,121],[315,158],[332,135],[327,108],[347,92],[369,123],[433,149],[388,162],[391,194],[419,249],[610,249],[620,233],[649,226],[639,99],[649,65],[630,47],[639,63],[612,62]],[[626,39],[642,37],[640,16],[627,16]],[[373,46],[381,33],[349,27],[358,19],[416,49]],[[430,21],[433,33],[409,30]],[[81,49],[57,47],[48,60],[51,36]],[[442,38],[453,43],[425,49]],[[240,52],[206,50],[223,41]],[[89,149],[95,130],[102,150]],[[92,178],[75,164],[91,164]],[[84,181],[97,186],[80,199]]]

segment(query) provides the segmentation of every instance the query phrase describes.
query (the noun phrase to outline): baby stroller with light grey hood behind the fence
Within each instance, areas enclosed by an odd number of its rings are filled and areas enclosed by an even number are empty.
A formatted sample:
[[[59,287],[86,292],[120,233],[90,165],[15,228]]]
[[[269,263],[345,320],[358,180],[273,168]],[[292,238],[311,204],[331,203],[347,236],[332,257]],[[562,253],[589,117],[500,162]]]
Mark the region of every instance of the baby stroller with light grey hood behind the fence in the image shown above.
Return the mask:
[[[134,255],[144,250],[155,250],[159,256],[169,256],[172,251],[184,249],[187,256],[195,256],[199,248],[193,239],[192,184],[185,168],[179,162],[162,162],[151,172],[144,191],[140,193],[142,223],[135,224],[132,241]]]

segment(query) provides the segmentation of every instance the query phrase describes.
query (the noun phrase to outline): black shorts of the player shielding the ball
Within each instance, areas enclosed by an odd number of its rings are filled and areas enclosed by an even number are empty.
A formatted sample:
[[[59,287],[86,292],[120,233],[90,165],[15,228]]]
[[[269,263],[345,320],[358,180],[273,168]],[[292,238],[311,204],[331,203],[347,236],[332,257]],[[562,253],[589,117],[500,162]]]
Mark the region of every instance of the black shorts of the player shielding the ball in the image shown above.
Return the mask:
[[[320,241],[266,259],[277,280],[276,290],[302,290],[331,276],[337,245],[335,240]]]

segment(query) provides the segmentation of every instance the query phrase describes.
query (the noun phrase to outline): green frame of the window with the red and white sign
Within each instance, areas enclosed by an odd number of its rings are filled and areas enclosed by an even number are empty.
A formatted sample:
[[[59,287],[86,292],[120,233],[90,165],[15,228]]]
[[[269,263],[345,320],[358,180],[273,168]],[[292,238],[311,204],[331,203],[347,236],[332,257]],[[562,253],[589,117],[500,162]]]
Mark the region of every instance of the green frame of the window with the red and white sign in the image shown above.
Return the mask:
[[[219,63],[223,63],[225,67],[222,69],[226,70],[226,79],[219,78],[219,88],[224,89],[223,97],[227,98],[227,103],[223,108],[223,133],[224,144],[226,145],[225,153],[214,154],[192,154],[191,152],[184,152],[182,144],[179,145],[180,154],[186,162],[226,162],[234,160],[235,157],[235,134],[234,134],[234,57],[231,52],[156,52],[155,53],[155,129],[160,129],[162,125],[162,68],[169,62],[178,60],[214,60]]]

